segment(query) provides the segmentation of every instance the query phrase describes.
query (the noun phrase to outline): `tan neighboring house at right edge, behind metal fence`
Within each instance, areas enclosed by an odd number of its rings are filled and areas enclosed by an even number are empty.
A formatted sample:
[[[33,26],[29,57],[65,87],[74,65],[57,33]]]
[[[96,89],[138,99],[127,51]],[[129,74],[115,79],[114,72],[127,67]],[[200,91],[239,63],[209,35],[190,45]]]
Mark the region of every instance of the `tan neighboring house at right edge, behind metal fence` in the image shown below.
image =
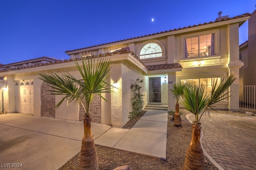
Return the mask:
[[[240,68],[240,101],[251,104],[255,109],[255,87],[256,77],[256,10],[252,12],[248,20],[248,41],[239,46],[239,58],[244,62]]]

